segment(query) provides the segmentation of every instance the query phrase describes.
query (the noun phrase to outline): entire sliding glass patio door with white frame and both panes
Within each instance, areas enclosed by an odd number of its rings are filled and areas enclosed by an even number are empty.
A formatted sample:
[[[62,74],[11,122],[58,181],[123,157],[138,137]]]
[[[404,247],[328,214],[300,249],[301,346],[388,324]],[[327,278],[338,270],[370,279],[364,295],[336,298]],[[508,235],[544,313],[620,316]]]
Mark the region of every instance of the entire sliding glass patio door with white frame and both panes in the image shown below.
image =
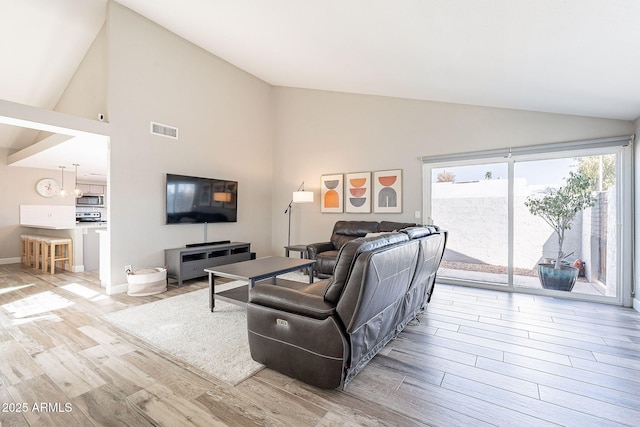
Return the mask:
[[[440,282],[624,303],[631,144],[574,145],[423,158],[426,214],[449,232]],[[568,288],[545,280],[560,270],[575,276]]]

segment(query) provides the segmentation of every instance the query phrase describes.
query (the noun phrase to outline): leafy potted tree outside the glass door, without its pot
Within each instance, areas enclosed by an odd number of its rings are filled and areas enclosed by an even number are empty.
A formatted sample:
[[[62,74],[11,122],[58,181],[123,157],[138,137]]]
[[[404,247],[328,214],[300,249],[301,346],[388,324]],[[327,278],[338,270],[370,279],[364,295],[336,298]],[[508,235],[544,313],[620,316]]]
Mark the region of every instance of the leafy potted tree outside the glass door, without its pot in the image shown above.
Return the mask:
[[[569,178],[558,189],[549,189],[542,197],[527,197],[524,202],[529,212],[544,219],[558,237],[558,257],[555,268],[560,268],[564,253],[565,231],[570,230],[578,212],[594,205],[591,192],[593,182],[582,172],[569,172]]]

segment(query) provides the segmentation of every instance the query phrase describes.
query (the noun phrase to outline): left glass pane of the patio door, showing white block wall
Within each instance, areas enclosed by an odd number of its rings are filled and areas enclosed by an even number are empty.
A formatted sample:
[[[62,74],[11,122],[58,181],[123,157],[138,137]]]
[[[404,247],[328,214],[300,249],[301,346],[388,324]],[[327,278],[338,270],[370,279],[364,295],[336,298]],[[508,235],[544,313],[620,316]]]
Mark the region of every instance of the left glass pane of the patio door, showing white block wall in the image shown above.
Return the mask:
[[[508,284],[507,163],[431,169],[431,218],[449,231],[440,275]]]

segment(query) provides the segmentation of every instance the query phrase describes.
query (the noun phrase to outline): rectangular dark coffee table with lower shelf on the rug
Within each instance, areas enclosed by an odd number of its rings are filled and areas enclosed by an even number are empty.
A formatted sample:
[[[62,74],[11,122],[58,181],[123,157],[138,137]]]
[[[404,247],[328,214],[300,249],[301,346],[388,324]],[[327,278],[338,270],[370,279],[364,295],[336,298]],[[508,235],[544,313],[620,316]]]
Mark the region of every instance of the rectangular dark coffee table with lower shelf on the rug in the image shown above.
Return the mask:
[[[276,279],[276,276],[292,271],[307,269],[309,272],[309,283],[313,283],[313,264],[315,262],[313,259],[273,256],[205,268],[204,271],[209,273],[209,308],[213,311],[216,305],[216,298],[233,304],[246,305],[249,301],[249,291],[256,285],[256,282],[265,279],[271,279],[271,283],[274,284],[291,282],[284,279]],[[244,280],[247,282],[247,285],[215,293],[216,277]]]

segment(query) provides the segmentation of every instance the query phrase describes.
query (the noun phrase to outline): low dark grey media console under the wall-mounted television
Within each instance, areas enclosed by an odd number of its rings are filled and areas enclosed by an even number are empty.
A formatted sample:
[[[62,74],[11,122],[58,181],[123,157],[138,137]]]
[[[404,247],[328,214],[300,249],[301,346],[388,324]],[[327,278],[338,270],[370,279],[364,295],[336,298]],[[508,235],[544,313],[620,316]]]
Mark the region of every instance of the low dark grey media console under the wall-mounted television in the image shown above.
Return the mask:
[[[178,286],[182,286],[184,280],[206,276],[205,268],[250,259],[251,243],[242,242],[164,250],[167,277],[176,279]]]

